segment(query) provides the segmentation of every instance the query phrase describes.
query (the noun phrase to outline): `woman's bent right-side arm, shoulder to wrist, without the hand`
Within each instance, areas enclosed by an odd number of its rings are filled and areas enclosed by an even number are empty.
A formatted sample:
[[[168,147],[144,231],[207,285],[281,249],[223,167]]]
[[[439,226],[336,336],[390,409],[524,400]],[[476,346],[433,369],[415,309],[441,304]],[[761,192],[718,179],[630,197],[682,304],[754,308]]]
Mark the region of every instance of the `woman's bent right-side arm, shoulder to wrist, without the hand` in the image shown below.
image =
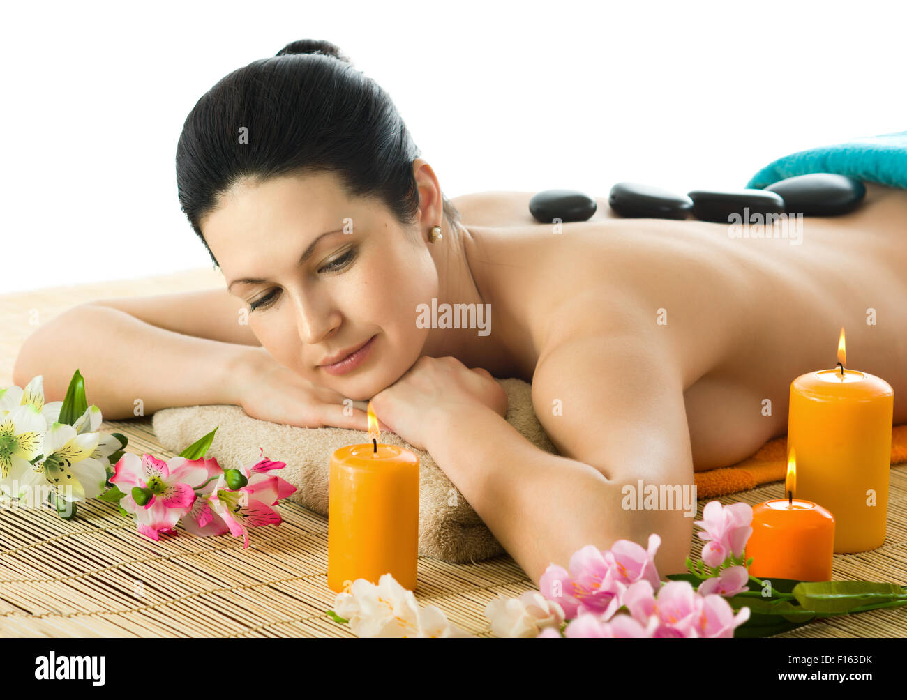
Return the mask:
[[[644,345],[589,338],[545,355],[532,381],[536,414],[562,456],[543,452],[491,409],[433,422],[426,448],[489,530],[538,585],[587,544],[646,547],[657,532],[658,573],[686,570],[696,515],[680,383]],[[578,368],[581,368],[578,371]],[[552,411],[560,400],[561,414]],[[687,487],[688,504],[625,510],[622,491]],[[675,493],[677,491],[674,491]]]

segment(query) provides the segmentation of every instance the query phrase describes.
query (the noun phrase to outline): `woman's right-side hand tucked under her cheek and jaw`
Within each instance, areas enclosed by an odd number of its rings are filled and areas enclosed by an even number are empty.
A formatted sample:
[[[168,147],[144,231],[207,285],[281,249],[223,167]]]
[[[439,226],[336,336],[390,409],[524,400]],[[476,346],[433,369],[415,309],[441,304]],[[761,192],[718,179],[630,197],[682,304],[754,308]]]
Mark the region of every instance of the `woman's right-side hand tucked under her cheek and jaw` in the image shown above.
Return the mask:
[[[507,393],[481,367],[455,357],[420,357],[409,371],[372,398],[375,415],[389,430],[425,450],[438,421],[461,412],[507,413]]]

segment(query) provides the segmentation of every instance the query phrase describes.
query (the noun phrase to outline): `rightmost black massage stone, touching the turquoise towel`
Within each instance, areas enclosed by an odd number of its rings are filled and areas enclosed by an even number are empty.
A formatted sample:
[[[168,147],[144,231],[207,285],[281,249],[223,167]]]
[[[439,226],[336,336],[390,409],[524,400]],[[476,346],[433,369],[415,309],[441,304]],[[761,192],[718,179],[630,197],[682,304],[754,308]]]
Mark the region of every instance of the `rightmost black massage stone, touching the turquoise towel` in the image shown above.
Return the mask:
[[[860,180],[831,172],[812,172],[779,180],[766,190],[781,195],[788,214],[834,217],[856,209],[866,195]]]

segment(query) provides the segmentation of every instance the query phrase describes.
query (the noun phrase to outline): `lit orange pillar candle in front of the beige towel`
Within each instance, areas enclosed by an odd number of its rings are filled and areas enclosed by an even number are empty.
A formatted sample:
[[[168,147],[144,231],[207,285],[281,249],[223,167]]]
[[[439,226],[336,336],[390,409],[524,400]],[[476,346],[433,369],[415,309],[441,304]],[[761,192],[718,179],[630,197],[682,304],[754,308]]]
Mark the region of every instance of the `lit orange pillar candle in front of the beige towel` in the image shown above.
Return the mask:
[[[390,573],[415,590],[419,549],[419,458],[378,443],[368,405],[367,444],[331,455],[327,500],[327,586],[340,593],[356,578]]]

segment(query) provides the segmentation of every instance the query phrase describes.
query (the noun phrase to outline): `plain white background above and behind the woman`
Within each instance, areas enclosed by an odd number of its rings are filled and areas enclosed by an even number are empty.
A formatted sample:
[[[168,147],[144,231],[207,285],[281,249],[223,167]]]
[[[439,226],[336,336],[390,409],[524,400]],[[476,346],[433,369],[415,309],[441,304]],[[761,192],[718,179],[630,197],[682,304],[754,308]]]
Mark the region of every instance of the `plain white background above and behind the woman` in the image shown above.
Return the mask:
[[[685,192],[907,129],[894,8],[5,5],[0,292],[210,267],[177,199],[182,123],[223,75],[296,39],[334,42],[390,92],[448,197],[604,196],[617,180]]]

